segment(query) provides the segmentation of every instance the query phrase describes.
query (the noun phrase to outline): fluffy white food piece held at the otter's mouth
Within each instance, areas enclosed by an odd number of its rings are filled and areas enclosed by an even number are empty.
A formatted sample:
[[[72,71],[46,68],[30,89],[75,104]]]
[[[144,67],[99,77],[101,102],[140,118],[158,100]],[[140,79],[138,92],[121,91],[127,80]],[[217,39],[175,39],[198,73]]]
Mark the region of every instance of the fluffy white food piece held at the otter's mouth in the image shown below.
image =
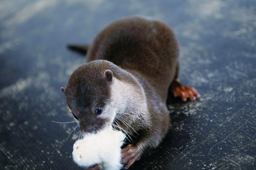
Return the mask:
[[[120,170],[124,139],[124,133],[112,127],[86,134],[73,145],[73,160],[81,167],[101,164],[104,170]]]

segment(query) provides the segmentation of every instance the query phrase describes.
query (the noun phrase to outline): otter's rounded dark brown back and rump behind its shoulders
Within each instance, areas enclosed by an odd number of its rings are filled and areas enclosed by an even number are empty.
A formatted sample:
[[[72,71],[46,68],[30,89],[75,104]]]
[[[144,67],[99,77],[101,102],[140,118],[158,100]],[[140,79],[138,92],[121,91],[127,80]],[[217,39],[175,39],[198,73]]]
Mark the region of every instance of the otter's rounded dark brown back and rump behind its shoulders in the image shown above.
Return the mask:
[[[104,28],[93,41],[87,57],[88,61],[111,61],[142,75],[163,91],[175,76],[178,53],[177,40],[164,23],[128,17]]]

